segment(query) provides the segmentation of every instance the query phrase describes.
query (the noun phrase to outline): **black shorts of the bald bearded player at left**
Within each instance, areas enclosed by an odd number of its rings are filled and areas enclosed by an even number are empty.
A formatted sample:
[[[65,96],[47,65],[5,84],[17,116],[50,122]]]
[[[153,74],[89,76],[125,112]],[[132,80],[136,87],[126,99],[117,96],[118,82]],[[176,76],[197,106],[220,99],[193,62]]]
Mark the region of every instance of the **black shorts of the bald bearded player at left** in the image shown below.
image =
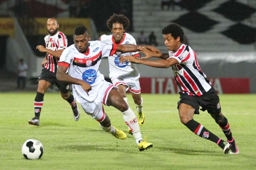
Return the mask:
[[[62,93],[69,92],[69,84],[64,83],[62,81],[58,81],[56,78],[56,73],[49,71],[45,68],[42,69],[42,72],[41,72],[40,76],[38,77],[37,82],[39,80],[45,80],[51,84],[55,84]]]

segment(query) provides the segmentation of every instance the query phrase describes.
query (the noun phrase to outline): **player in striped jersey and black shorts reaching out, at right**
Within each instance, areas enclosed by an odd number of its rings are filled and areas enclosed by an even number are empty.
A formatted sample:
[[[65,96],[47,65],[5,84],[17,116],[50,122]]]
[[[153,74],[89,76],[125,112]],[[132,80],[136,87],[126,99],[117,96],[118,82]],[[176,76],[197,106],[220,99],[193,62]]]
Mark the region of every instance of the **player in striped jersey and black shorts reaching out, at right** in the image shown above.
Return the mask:
[[[177,24],[169,24],[162,30],[162,34],[169,54],[163,54],[160,51],[151,52],[145,47],[138,49],[146,54],[143,59],[157,57],[163,60],[147,61],[127,56],[120,58],[120,61],[130,61],[157,68],[172,67],[176,83],[181,91],[178,101],[180,121],[196,135],[218,144],[225,154],[238,154],[239,151],[228,120],[221,113],[219,97],[211,83],[206,79],[206,75],[201,71],[195,52],[190,46],[183,44],[184,32],[182,28]],[[193,119],[194,114],[199,114],[199,106],[202,107],[200,110],[207,110],[221,127],[228,142],[223,141]]]

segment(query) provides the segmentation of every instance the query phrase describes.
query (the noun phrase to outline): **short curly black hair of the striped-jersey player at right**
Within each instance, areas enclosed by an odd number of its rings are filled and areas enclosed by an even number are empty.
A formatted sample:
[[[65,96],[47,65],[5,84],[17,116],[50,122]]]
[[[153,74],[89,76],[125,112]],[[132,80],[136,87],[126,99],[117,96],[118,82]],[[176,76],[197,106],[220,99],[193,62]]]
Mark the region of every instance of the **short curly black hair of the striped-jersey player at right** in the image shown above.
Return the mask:
[[[180,41],[184,42],[184,32],[178,24],[169,24],[162,29],[162,34],[171,34],[174,39],[180,37]]]

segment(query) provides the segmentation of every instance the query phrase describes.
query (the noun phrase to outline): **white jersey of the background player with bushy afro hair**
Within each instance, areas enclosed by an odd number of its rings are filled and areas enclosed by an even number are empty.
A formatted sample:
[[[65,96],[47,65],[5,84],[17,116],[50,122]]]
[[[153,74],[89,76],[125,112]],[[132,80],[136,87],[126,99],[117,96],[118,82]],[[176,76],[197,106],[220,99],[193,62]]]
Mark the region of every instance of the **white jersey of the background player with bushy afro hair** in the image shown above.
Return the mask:
[[[108,44],[116,44],[114,41],[113,35],[102,35],[100,37],[100,41]],[[124,33],[123,40],[118,44],[134,44],[136,45],[136,41],[128,33]],[[140,57],[139,52],[129,52],[129,53],[121,53],[116,52],[112,56],[108,57],[109,63],[109,78],[129,78],[131,80],[137,80],[140,78],[140,73],[135,67],[135,64],[130,62],[119,63],[119,57],[125,55],[132,55],[134,57]]]

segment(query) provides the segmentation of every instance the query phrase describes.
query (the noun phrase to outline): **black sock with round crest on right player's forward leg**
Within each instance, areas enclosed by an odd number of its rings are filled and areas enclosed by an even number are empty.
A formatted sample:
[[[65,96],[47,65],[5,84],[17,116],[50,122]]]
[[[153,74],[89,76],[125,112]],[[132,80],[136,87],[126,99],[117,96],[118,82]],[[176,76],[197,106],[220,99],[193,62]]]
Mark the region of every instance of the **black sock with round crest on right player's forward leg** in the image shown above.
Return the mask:
[[[192,132],[194,132],[196,135],[208,139],[214,143],[219,144],[220,138],[207,130],[203,125],[199,124],[198,122],[194,121],[193,119],[190,120],[188,123],[185,124],[186,127],[188,127]]]

